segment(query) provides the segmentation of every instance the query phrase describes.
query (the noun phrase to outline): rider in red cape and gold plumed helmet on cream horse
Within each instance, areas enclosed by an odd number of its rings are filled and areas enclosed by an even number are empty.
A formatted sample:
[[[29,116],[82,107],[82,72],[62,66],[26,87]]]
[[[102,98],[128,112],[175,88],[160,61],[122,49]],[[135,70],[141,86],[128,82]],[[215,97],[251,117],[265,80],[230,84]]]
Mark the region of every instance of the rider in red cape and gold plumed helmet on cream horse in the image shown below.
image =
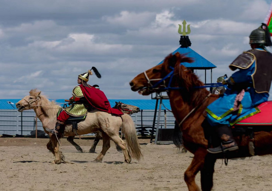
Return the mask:
[[[92,67],[91,70],[94,71],[98,78],[101,78],[100,73],[95,67]],[[110,107],[110,102],[108,101],[103,91],[87,84],[89,81],[89,76],[92,75],[91,70],[78,75],[78,84],[80,85],[76,86],[72,91],[74,96],[70,98],[70,103],[72,103],[71,106],[66,107],[63,111],[61,111],[57,117],[55,128],[46,128],[48,132],[61,136],[62,132],[65,130],[65,123],[68,118],[70,118],[70,116],[85,116],[88,114],[88,110],[93,108],[117,116],[124,114],[120,110]]]

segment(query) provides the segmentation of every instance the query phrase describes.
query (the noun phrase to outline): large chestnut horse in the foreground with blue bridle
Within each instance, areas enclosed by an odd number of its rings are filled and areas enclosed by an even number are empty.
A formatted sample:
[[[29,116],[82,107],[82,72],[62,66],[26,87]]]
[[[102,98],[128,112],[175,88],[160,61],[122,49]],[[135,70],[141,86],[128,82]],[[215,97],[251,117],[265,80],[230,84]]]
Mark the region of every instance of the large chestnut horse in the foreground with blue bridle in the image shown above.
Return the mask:
[[[160,65],[139,74],[131,82],[131,90],[143,95],[152,92],[167,91],[173,114],[180,124],[183,133],[183,144],[194,158],[184,174],[189,191],[200,190],[195,183],[196,174],[201,171],[202,190],[211,190],[213,186],[214,163],[216,159],[223,158],[223,154],[208,154],[208,138],[213,134],[211,128],[205,125],[206,107],[218,98],[210,95],[198,77],[181,63],[191,63],[193,60],[180,53],[170,54]],[[205,135],[204,136],[204,132]],[[249,153],[249,136],[235,137],[239,150],[228,152],[228,158],[252,156]],[[259,131],[254,133],[255,155],[272,154],[272,131]],[[237,172],[238,173],[238,172]]]

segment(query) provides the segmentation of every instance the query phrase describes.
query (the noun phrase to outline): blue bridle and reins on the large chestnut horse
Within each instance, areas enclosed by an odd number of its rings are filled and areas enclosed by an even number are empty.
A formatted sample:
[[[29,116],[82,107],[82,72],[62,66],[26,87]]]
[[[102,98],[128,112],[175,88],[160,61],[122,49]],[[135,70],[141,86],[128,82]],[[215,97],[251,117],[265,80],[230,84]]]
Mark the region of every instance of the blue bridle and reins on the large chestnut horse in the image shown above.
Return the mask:
[[[180,64],[180,65],[182,65],[182,64]],[[174,69],[174,67],[169,67],[169,68],[172,69],[172,71],[169,72],[165,77],[159,78],[159,79],[149,79],[147,74],[146,74],[146,71],[145,71],[144,72],[145,77],[146,77],[146,79],[148,81],[148,84],[150,85],[150,87],[147,87],[147,88],[150,89],[150,90],[157,89],[157,90],[166,90],[166,91],[183,89],[183,87],[171,87],[171,83],[172,83],[172,80],[173,80],[173,77],[174,77],[174,70],[175,69]],[[165,85],[165,80],[167,78],[169,78],[169,77],[170,77],[170,80],[168,82],[168,86],[166,86]],[[157,81],[157,80],[158,80],[158,82],[156,84],[154,84],[154,85],[151,84],[151,81]],[[164,88],[159,88],[159,85],[162,82],[164,83]],[[207,87],[227,87],[227,86],[223,85],[222,83],[210,83],[210,84],[204,84],[204,86],[195,86],[194,88],[207,88]]]

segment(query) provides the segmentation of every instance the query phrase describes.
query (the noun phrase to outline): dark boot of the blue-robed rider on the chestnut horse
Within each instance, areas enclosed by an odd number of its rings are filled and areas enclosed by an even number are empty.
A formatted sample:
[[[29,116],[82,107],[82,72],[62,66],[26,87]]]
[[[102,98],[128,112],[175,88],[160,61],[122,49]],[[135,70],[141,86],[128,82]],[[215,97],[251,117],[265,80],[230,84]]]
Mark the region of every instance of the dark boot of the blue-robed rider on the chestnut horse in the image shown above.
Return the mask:
[[[225,151],[235,151],[238,149],[238,145],[235,142],[231,128],[227,125],[215,127],[218,136],[221,138],[221,145],[215,148],[208,148],[209,153],[221,153]]]

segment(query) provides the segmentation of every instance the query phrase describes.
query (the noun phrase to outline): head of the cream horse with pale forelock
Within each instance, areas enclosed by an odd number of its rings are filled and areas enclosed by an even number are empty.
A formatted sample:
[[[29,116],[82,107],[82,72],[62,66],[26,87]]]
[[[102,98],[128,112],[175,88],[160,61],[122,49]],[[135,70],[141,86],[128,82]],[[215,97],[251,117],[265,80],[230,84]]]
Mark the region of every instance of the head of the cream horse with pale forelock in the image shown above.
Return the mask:
[[[25,96],[23,99],[16,103],[18,111],[22,112],[24,110],[33,109],[33,105],[37,105],[38,100],[41,98],[41,91],[37,89],[32,89],[29,91],[29,95]]]

